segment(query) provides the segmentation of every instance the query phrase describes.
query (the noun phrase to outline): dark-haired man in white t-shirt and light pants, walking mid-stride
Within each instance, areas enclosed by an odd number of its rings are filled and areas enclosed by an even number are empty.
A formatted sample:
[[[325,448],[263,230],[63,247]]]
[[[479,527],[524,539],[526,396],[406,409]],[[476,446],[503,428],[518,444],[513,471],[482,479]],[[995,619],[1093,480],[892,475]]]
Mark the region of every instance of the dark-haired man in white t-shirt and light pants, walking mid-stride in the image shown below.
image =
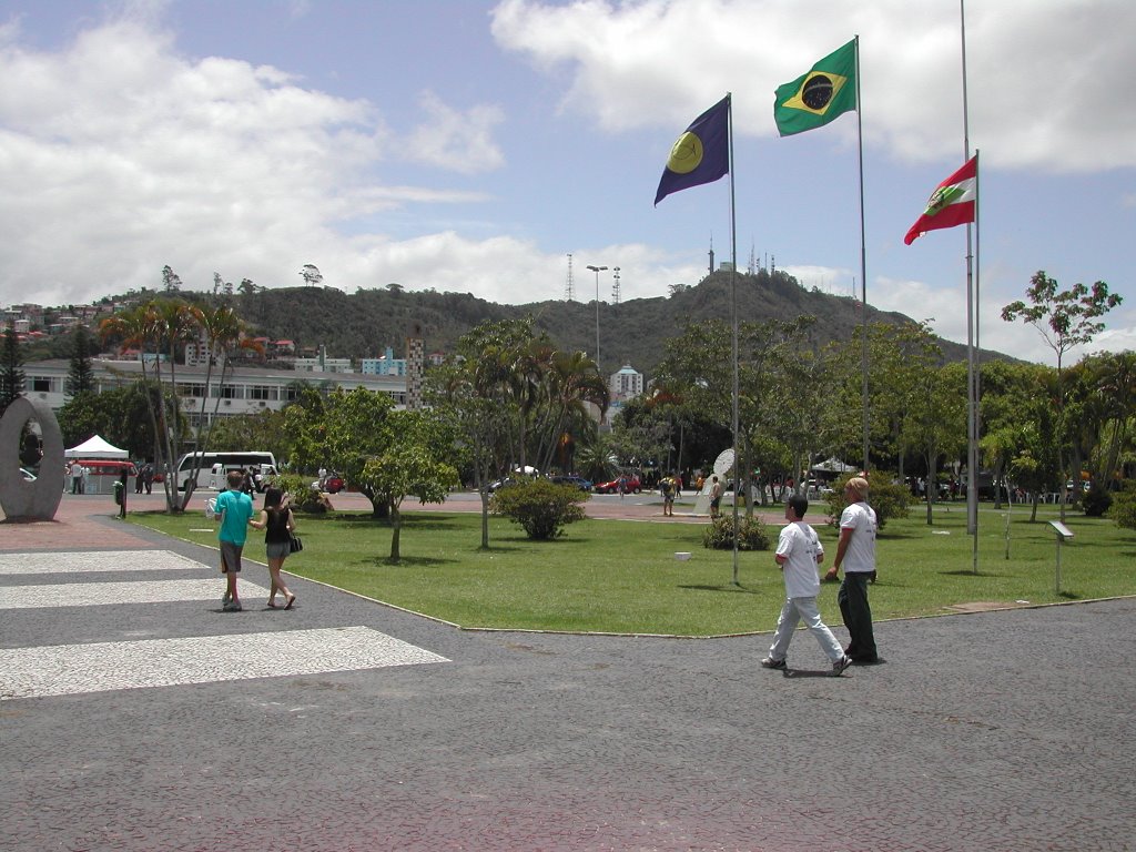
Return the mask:
[[[825,548],[817,537],[817,531],[804,523],[804,513],[809,510],[809,501],[801,494],[794,494],[785,501],[785,520],[788,524],[777,540],[775,559],[785,575],[785,603],[777,618],[777,632],[769,655],[761,661],[767,669],[786,668],[785,657],[788,644],[793,641],[793,632],[801,619],[812,632],[820,650],[828,655],[833,665],[833,676],[840,677],[852,659],[844,653],[841,643],[833,632],[820,620],[817,610],[817,595],[820,593],[820,577],[817,566],[825,558]]]

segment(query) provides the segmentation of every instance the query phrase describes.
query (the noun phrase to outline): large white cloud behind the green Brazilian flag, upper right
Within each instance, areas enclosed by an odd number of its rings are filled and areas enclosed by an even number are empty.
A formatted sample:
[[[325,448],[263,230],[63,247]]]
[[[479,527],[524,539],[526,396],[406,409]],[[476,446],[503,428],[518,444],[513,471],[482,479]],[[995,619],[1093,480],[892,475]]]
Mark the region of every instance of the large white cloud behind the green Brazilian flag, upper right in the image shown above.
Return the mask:
[[[733,91],[736,131],[762,136],[776,134],[774,89],[859,34],[866,141],[912,161],[960,153],[958,5],[912,16],[910,0],[821,3],[809,26],[803,11],[753,0],[503,0],[493,34],[541,68],[567,67],[563,107],[611,131],[682,127]],[[1000,0],[971,3],[966,23],[972,143],[988,165],[1136,165],[1136,87],[1122,84],[1136,76],[1136,5]]]

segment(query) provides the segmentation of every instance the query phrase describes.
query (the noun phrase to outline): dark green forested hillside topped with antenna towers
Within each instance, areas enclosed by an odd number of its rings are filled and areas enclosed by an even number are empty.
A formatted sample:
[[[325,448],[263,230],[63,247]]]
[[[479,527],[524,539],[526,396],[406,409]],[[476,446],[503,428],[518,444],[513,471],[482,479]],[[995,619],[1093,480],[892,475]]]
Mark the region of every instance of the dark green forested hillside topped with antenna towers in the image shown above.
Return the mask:
[[[730,289],[728,272],[716,272],[700,284],[676,289],[669,296],[633,299],[600,304],[600,366],[615,373],[630,365],[649,377],[663,354],[663,341],[683,333],[688,323],[711,319],[729,323]],[[760,270],[736,277],[738,321],[816,317],[813,340],[846,341],[862,320],[855,300],[810,291],[782,272]],[[115,301],[149,299],[161,293],[147,291]],[[536,327],[546,331],[562,349],[595,352],[594,301],[544,301],[528,304],[495,304],[468,293],[409,292],[396,285],[381,290],[344,293],[334,287],[299,286],[279,289],[249,287],[231,295],[177,293],[187,300],[231,300],[237,314],[257,335],[272,340],[292,340],[299,350],[326,346],[332,358],[377,358],[387,346],[395,358],[406,356],[406,339],[411,328],[420,328],[427,352],[450,352],[457,340],[485,320],[533,317]],[[109,298],[108,298],[109,299]],[[963,311],[964,307],[959,306]],[[921,317],[919,319],[922,319]],[[869,307],[870,323],[912,323],[902,314],[877,311]],[[942,341],[945,360],[966,359],[966,348]],[[69,335],[32,344],[27,357],[67,357]],[[1004,358],[984,352],[984,358]]]

